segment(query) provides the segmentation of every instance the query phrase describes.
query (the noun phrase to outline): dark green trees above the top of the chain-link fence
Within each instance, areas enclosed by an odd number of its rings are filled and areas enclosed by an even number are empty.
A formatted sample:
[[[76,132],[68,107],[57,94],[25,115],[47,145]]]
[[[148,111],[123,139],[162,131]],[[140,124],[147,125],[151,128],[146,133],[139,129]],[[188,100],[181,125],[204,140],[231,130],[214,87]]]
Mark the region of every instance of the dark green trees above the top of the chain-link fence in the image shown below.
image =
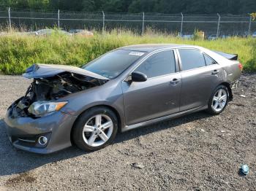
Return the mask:
[[[72,12],[233,14],[256,12],[256,0],[1,0],[1,8]]]

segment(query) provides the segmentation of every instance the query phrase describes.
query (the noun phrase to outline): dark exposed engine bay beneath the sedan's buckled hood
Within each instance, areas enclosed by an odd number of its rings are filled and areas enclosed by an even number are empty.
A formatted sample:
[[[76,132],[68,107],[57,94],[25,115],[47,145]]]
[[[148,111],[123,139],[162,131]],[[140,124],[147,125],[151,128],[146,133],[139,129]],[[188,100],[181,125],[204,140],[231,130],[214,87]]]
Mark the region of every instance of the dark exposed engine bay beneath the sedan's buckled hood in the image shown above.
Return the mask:
[[[36,101],[56,101],[66,95],[105,84],[108,79],[63,72],[53,77],[33,79],[26,94],[12,104],[12,117],[36,117],[29,112],[29,106]]]

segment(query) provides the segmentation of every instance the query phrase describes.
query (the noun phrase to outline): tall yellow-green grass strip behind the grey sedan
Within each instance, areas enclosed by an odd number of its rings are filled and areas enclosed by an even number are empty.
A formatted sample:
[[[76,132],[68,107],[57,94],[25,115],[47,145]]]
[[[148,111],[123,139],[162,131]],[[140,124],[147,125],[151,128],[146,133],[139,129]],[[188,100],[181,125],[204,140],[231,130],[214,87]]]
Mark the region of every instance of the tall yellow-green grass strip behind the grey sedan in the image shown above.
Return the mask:
[[[210,50],[237,53],[245,71],[256,71],[256,39],[233,37],[215,41],[180,39],[167,34],[148,32],[144,36],[113,30],[94,37],[27,36],[7,33],[0,36],[0,73],[22,74],[33,63],[81,66],[99,55],[129,44],[195,44]]]

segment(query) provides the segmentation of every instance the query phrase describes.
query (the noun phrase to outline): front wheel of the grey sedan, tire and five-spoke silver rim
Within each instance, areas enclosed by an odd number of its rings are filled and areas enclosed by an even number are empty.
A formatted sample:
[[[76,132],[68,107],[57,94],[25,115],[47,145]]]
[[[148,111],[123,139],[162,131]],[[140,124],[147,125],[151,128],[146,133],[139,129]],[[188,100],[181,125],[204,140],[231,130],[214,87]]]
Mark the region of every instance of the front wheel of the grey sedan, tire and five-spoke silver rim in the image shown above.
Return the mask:
[[[116,137],[118,120],[108,107],[94,107],[80,115],[72,128],[72,141],[84,151],[102,149]]]

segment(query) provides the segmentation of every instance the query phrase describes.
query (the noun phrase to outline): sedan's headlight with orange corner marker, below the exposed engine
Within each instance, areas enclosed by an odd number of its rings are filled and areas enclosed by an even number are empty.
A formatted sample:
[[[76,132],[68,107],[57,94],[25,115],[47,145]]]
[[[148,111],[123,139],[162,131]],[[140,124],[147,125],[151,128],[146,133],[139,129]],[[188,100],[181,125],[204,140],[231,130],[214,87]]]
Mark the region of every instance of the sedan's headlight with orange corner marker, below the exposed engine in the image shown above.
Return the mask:
[[[43,116],[49,114],[50,112],[59,111],[67,101],[63,102],[50,102],[50,101],[36,101],[31,106],[29,106],[29,113],[35,116]]]

